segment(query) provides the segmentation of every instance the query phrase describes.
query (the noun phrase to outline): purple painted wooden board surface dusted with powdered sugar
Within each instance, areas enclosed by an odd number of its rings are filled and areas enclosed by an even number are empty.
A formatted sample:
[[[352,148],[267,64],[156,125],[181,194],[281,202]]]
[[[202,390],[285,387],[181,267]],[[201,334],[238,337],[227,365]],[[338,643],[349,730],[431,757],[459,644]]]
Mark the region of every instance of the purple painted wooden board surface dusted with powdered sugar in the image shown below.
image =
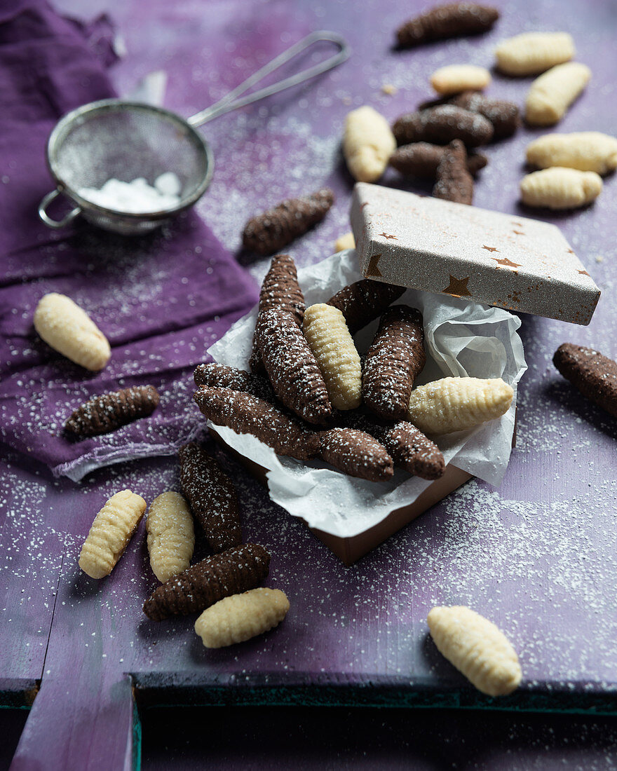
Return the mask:
[[[79,0],[57,7],[83,12]],[[296,242],[299,264],[332,251],[349,230],[352,180],[342,167],[344,116],[369,103],[389,120],[430,94],[442,64],[490,66],[498,39],[528,29],[565,29],[594,76],[559,130],[614,133],[615,6],[521,0],[505,4],[480,39],[390,49],[393,29],[422,3],[89,3],[109,9],[126,41],[114,79],[121,93],[153,69],[168,73],[166,106],[189,115],[214,102],[275,53],[313,29],[342,32],[352,59],[267,104],[205,129],[217,170],[199,214],[232,251],[248,214],[329,184],[337,202]],[[145,14],[145,16],[144,16]],[[399,90],[385,96],[381,86]],[[489,93],[522,103],[527,80],[494,79]],[[521,210],[522,130],[491,146],[475,203]],[[394,173],[385,182],[401,185]],[[409,186],[410,190],[422,191]],[[6,453],[0,530],[0,691],[4,705],[30,705],[15,769],[130,768],[138,763],[137,702],[177,704],[423,705],[617,712],[617,527],[615,422],[583,402],[551,365],[566,340],[617,356],[612,329],[615,180],[588,209],[555,221],[602,288],[588,328],[525,317],[530,365],[520,389],[518,447],[498,490],[472,481],[353,567],[345,568],[302,524],[273,506],[231,461],[244,536],[273,554],[268,585],[292,611],[263,638],[207,651],[193,618],[154,624],[141,604],[155,581],[143,525],[113,575],[94,583],[76,565],[80,542],[107,497],[133,487],[152,500],[177,489],[173,460],[123,464],[80,485]],[[248,264],[261,278],[267,261]],[[196,416],[197,419],[197,416]],[[468,687],[427,641],[433,604],[470,604],[507,632],[524,683],[495,702]],[[430,726],[430,720],[425,721]]]

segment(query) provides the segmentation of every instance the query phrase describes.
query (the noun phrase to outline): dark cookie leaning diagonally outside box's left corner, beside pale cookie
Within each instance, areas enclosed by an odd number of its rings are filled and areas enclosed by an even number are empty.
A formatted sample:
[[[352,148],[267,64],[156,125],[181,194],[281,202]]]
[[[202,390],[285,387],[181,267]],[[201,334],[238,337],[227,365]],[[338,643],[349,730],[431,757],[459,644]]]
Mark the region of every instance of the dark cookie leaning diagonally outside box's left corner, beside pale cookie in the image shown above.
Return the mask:
[[[197,443],[180,447],[180,484],[214,552],[242,543],[238,496],[218,461]]]

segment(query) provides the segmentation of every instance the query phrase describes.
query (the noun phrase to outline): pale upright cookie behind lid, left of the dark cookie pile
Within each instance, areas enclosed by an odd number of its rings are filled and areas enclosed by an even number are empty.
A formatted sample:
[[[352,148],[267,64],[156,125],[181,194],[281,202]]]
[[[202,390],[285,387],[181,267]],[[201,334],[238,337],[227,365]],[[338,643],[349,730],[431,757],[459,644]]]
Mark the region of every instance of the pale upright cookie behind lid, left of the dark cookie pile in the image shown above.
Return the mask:
[[[388,121],[373,107],[352,110],[345,120],[342,152],[349,173],[359,182],[375,182],[396,150]]]

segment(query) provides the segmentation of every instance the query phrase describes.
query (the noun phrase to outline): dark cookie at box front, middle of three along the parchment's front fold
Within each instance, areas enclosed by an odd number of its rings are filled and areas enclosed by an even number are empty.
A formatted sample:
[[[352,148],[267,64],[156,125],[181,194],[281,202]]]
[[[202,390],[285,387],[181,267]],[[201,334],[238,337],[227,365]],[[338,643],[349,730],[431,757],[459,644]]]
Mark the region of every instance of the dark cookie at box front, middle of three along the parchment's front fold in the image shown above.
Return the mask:
[[[386,482],[394,473],[392,458],[383,444],[368,433],[335,428],[319,433],[319,457],[360,479]]]

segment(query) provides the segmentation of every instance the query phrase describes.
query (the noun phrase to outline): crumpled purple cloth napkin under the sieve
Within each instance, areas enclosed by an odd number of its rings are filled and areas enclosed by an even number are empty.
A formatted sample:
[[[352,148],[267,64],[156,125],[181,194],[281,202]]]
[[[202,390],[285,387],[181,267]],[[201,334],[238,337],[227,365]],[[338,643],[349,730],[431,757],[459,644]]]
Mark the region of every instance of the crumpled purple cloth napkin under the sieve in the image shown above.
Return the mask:
[[[69,109],[113,96],[109,40],[105,19],[79,25],[37,0],[0,10],[0,437],[73,480],[120,460],[174,453],[198,436],[204,421],[191,399],[192,370],[257,298],[248,274],[192,212],[139,238],[86,224],[56,234],[39,222],[37,205],[53,187],[49,132]],[[32,315],[49,291],[69,295],[109,339],[102,372],[72,364],[36,335]],[[81,442],[62,435],[90,397],[140,384],[160,392],[149,418]]]

